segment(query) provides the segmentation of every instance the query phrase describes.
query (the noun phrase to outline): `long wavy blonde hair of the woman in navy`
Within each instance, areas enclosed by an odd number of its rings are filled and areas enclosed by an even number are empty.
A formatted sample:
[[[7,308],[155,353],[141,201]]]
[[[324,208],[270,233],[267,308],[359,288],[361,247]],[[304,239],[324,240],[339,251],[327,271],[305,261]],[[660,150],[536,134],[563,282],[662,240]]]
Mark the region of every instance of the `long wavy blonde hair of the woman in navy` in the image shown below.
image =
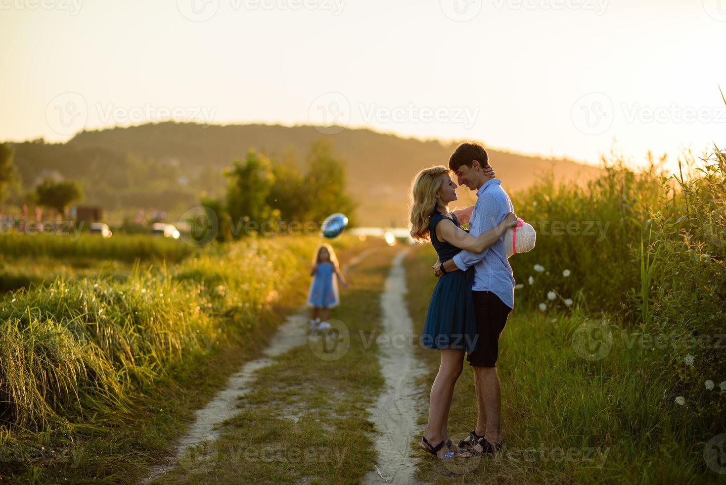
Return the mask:
[[[430,235],[428,225],[436,205],[436,191],[441,188],[441,176],[451,171],[444,166],[425,168],[420,171],[409,190],[409,229],[418,243],[426,243]]]

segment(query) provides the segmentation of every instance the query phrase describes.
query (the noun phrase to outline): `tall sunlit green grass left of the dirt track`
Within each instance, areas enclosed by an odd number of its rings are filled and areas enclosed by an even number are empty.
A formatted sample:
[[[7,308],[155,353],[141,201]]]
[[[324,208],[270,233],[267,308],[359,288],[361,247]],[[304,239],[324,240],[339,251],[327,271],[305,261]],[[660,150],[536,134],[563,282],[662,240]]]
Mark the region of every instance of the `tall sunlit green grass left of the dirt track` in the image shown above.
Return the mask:
[[[316,245],[250,238],[161,272],[136,264],[125,280],[59,278],[2,298],[0,443],[128,412],[175,364],[257,325]]]

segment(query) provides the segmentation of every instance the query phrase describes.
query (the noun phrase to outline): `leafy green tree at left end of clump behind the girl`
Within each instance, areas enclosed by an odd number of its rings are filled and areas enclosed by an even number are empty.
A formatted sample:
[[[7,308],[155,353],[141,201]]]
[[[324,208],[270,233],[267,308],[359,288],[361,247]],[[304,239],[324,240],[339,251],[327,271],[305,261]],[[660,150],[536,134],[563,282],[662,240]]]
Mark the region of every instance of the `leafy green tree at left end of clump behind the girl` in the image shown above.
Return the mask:
[[[267,204],[274,174],[272,163],[265,155],[250,150],[244,162],[234,160],[232,168],[224,172],[227,177],[227,213],[234,226],[234,235],[242,234],[247,223],[254,231],[278,213]],[[247,229],[244,229],[245,232]]]

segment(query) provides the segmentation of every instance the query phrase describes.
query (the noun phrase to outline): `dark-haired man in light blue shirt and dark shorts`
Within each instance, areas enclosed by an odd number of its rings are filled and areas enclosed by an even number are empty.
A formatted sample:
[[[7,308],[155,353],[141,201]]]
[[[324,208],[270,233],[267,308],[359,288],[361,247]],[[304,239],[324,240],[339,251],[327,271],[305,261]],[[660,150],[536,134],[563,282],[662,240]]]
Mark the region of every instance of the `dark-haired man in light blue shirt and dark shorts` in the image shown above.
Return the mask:
[[[477,201],[469,221],[470,234],[477,237],[496,226],[514,212],[512,201],[502,189],[502,181],[489,179],[484,168],[489,155],[478,143],[462,143],[449,159],[449,168],[456,174],[459,185],[476,190]],[[444,272],[466,271],[474,266],[472,295],[478,327],[478,349],[467,356],[474,371],[478,418],[476,429],[460,441],[462,457],[494,454],[502,447],[499,435],[502,415],[502,396],[497,375],[499,335],[514,308],[514,277],[507,261],[503,237],[484,252],[476,254],[462,250],[457,256],[434,266],[436,276]]]

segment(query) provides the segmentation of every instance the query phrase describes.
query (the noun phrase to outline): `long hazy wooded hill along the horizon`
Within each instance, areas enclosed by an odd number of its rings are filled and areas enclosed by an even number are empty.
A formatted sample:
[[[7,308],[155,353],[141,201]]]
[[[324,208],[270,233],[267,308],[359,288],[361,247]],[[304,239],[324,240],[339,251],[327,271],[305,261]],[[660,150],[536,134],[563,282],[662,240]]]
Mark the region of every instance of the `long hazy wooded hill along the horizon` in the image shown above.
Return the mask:
[[[57,171],[79,179],[86,201],[109,209],[162,208],[171,213],[197,205],[202,190],[224,190],[221,170],[250,148],[273,160],[300,163],[315,139],[330,139],[347,160],[348,188],[358,200],[362,225],[404,226],[407,190],[420,168],[446,165],[456,143],[404,139],[369,129],[321,134],[314,126],[149,123],[128,128],[83,131],[65,144],[15,144],[16,164],[26,187],[38,174]],[[492,166],[510,192],[529,187],[552,171],[555,179],[584,181],[600,172],[571,160],[544,160],[489,150]],[[461,195],[460,195],[461,197]],[[465,195],[462,203],[473,200]]]

